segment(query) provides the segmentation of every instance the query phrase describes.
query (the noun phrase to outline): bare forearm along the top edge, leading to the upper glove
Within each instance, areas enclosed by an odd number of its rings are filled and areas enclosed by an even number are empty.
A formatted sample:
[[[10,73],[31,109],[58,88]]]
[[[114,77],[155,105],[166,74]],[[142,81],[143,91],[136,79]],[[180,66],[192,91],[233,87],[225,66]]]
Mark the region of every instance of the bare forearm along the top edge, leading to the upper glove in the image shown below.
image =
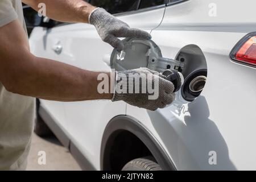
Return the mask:
[[[69,23],[88,23],[90,13],[96,7],[82,0],[23,0],[36,11],[39,3],[46,4],[46,15],[54,20]]]

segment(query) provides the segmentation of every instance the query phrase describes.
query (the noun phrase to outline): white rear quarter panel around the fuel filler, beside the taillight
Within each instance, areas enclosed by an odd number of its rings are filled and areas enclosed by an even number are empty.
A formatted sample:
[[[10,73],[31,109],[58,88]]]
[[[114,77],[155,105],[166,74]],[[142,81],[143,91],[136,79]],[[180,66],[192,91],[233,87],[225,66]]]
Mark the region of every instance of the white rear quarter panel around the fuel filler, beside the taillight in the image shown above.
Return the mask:
[[[217,6],[216,17],[209,16],[211,3]],[[127,115],[139,119],[158,138],[177,169],[255,170],[256,70],[229,59],[235,44],[256,30],[255,2],[243,4],[250,6],[241,10],[234,1],[205,0],[170,6],[161,26],[152,32],[164,57],[175,59],[180,49],[195,44],[207,60],[207,84],[196,101],[154,112],[127,105]]]

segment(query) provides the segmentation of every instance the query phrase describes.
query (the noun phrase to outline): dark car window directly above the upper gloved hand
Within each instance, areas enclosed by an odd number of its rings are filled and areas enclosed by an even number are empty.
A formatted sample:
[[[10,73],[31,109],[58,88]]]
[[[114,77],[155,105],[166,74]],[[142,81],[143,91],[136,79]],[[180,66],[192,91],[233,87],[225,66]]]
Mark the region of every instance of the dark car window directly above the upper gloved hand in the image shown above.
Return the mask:
[[[91,0],[90,4],[103,7],[111,14],[137,10],[139,0]]]

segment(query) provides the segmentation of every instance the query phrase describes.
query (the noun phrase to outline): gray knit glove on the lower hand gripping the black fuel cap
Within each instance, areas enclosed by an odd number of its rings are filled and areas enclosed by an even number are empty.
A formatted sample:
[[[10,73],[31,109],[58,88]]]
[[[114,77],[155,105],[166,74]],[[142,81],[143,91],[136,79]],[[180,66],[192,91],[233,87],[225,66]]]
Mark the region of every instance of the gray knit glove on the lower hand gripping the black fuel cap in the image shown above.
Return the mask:
[[[144,77],[142,75],[145,75]],[[136,78],[140,76],[139,81],[139,93],[135,92],[135,83]],[[126,79],[123,79],[126,78]],[[159,88],[157,89],[158,98],[150,100],[148,96],[152,96],[152,92],[148,92],[148,83],[154,82],[156,79],[159,79]],[[130,81],[129,81],[130,80]],[[143,81],[146,81],[146,85],[142,84]],[[137,82],[138,83],[138,82]],[[150,85],[149,88],[152,88]],[[133,92],[129,92],[133,90]],[[146,89],[146,92],[142,92],[142,89]],[[123,90],[126,90],[126,93],[123,93]],[[152,91],[152,90],[151,90]],[[129,71],[116,72],[115,76],[115,92],[112,101],[125,101],[127,104],[142,107],[148,110],[156,110],[158,108],[164,108],[166,105],[171,104],[175,100],[174,93],[174,84],[172,82],[164,79],[164,76],[158,72],[151,71],[147,68],[132,69]]]

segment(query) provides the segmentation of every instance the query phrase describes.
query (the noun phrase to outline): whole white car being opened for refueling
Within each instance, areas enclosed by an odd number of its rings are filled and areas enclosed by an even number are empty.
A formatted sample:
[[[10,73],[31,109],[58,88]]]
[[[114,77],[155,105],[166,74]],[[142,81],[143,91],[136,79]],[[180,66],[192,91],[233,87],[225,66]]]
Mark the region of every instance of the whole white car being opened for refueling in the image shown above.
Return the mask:
[[[256,1],[90,3],[151,32],[162,56],[183,65],[175,69],[184,84],[174,104],[156,111],[106,100],[37,100],[36,133],[46,133],[45,122],[83,169],[256,170]],[[34,55],[90,71],[115,68],[113,48],[92,25],[45,20],[30,36]]]

